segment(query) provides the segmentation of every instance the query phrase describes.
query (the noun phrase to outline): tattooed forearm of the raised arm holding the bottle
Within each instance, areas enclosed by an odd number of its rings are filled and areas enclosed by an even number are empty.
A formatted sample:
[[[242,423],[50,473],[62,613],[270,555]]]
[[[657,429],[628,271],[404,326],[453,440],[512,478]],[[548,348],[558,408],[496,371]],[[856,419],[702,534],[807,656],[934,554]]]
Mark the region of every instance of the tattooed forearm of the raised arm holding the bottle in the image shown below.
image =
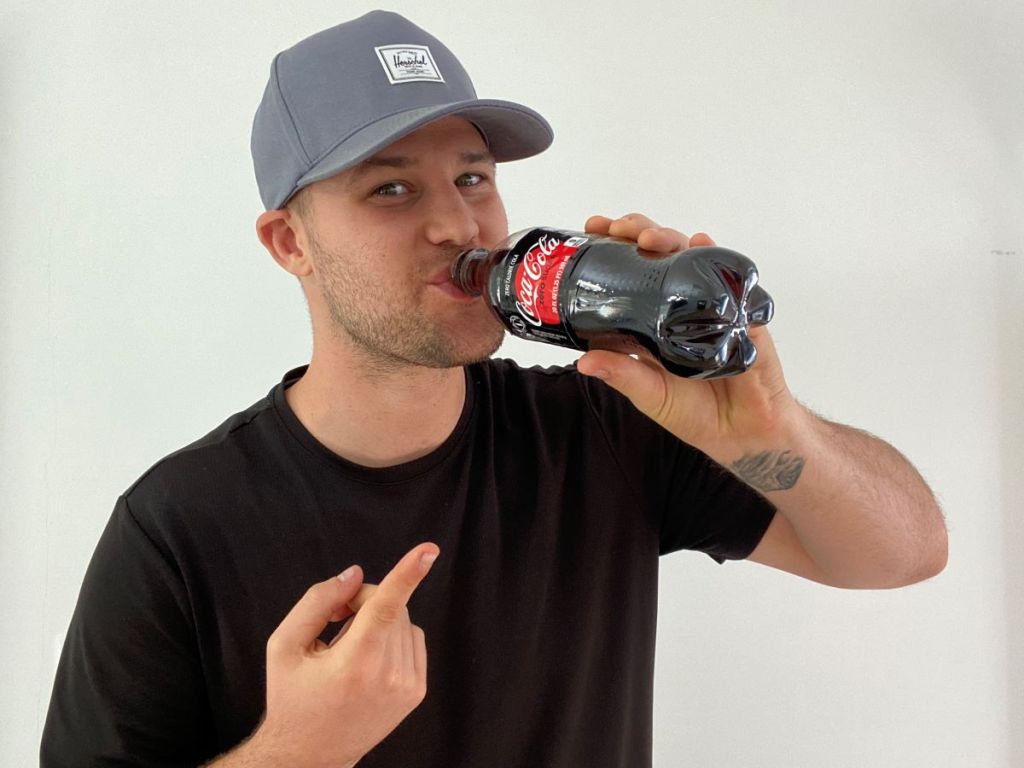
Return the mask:
[[[898,587],[945,565],[946,529],[918,471],[883,440],[802,406],[769,439],[719,458],[792,525],[819,581]]]

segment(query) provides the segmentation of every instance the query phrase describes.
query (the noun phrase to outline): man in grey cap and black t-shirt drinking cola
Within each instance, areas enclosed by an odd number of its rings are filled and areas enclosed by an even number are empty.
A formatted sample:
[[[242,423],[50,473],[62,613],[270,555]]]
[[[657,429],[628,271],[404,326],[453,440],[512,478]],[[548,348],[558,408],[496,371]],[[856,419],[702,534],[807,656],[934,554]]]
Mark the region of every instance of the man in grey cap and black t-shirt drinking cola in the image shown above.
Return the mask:
[[[274,59],[257,232],[303,287],[312,359],[118,500],[44,767],[645,765],[658,555],[840,587],[941,570],[924,481],[801,407],[763,329],[715,382],[488,359],[503,332],[451,265],[507,234],[495,161],[550,141],[393,13]]]

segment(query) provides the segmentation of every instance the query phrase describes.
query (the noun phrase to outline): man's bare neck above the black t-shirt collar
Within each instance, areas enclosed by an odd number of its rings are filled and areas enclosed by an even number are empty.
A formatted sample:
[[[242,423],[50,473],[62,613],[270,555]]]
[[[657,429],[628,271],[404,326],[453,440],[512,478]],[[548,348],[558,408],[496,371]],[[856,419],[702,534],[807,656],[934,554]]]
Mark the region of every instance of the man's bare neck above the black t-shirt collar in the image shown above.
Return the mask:
[[[285,398],[338,456],[388,467],[426,456],[447,439],[462,415],[466,378],[462,368],[385,366],[352,348],[314,343],[309,369]]]

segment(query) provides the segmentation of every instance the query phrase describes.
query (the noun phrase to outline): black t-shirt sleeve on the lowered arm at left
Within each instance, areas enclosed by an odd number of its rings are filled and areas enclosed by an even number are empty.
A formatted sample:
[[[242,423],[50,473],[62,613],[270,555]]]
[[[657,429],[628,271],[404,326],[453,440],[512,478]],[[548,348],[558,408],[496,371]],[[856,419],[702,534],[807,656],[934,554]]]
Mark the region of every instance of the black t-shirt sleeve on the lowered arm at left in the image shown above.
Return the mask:
[[[40,766],[195,767],[210,722],[181,577],[122,496],[71,620]]]

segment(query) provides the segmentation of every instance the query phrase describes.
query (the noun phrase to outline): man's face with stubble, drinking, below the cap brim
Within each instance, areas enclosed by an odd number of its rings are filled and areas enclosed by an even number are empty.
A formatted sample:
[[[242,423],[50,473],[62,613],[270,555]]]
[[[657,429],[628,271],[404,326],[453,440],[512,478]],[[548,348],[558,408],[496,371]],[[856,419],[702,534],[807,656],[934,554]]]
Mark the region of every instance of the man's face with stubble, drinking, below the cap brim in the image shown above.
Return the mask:
[[[451,368],[498,349],[504,330],[483,300],[445,284],[460,252],[508,236],[494,162],[472,125],[431,123],[309,191],[306,288],[323,298],[331,333],[388,370]]]

